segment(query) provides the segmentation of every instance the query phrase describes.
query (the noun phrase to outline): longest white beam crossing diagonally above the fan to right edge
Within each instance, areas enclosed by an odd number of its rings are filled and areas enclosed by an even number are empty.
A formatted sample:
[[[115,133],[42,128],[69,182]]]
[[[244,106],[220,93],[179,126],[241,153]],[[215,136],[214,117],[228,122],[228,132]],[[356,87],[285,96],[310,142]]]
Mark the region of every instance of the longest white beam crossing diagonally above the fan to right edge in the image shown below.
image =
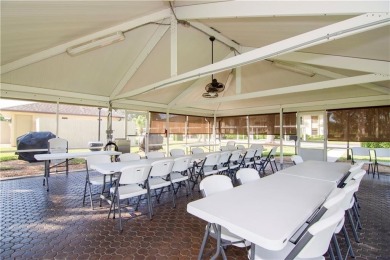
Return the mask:
[[[320,29],[300,34],[298,36],[286,40],[270,44],[262,48],[255,49],[253,51],[243,53],[241,55],[226,60],[216,62],[211,65],[207,65],[205,67],[193,71],[183,73],[176,77],[171,77],[169,79],[156,82],[133,91],[129,91],[122,95],[116,96],[115,99],[124,99],[155,89],[170,87],[175,84],[187,82],[203,76],[211,75],[213,73],[248,65],[264,59],[269,59],[278,55],[307,48],[309,46],[321,44],[334,39],[343,38],[355,33],[372,30],[381,26],[386,26],[390,24],[389,17],[390,14],[388,13],[360,15],[342,22],[338,22],[329,26],[322,27]]]

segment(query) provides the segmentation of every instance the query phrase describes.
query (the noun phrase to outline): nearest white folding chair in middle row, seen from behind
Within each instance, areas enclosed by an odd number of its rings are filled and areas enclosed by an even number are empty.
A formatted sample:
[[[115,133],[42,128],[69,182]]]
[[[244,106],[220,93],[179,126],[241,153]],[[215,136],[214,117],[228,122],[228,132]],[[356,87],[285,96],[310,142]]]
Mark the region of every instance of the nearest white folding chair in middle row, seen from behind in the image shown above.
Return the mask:
[[[149,219],[152,218],[150,196],[146,186],[149,171],[150,166],[147,164],[126,166],[121,169],[116,185],[110,188],[112,203],[110,211],[108,212],[108,218],[110,217],[112,211],[114,212],[115,218],[115,210],[117,207],[119,210],[119,230],[121,231],[123,230],[121,215],[122,207],[120,205],[121,200],[138,197],[138,203],[135,209],[138,210],[139,201],[141,200],[142,195],[145,195],[147,198]]]

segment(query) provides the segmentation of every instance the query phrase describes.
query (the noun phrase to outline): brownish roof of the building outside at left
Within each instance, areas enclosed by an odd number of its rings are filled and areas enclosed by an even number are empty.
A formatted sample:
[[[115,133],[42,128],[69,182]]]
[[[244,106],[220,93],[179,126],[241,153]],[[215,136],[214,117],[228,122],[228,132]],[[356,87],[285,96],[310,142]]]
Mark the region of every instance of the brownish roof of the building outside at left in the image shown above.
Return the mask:
[[[53,103],[31,103],[13,107],[2,108],[2,111],[15,111],[15,112],[34,112],[55,114],[57,112],[57,104]],[[99,109],[96,107],[76,106],[76,105],[59,105],[59,113],[65,115],[82,115],[82,116],[99,116]],[[107,108],[101,109],[101,116],[105,117],[108,114]],[[113,117],[124,117],[123,113],[112,111]]]

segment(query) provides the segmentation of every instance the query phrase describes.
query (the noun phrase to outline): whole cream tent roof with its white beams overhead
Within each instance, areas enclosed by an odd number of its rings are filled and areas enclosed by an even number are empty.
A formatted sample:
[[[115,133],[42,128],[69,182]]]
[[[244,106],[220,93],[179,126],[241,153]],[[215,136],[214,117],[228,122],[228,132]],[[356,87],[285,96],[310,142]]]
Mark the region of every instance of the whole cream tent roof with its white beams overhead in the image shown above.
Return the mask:
[[[2,1],[1,97],[208,116],[390,104],[389,1],[171,5]],[[211,74],[226,88],[205,99]]]

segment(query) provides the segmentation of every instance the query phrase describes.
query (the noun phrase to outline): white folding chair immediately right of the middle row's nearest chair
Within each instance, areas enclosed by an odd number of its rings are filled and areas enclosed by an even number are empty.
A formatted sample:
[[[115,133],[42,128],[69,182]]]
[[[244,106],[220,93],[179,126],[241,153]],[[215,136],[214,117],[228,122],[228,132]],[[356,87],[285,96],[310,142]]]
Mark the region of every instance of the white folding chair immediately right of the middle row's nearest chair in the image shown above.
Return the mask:
[[[175,191],[172,182],[169,180],[169,175],[172,172],[173,167],[173,159],[162,159],[155,161],[151,164],[152,168],[150,170],[149,178],[148,178],[148,192],[149,196],[151,196],[151,191],[154,191],[156,201],[160,202],[160,197],[164,191],[164,188],[171,187],[173,207],[176,207],[175,200]],[[160,190],[160,193],[157,194],[157,190]],[[150,207],[153,213],[153,203]]]

